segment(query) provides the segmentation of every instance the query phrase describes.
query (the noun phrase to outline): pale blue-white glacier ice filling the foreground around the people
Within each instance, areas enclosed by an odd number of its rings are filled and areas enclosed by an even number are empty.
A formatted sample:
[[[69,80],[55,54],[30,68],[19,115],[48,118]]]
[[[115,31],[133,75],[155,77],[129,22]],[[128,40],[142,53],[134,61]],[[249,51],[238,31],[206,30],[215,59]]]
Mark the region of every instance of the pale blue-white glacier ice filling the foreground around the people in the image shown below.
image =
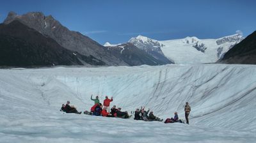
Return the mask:
[[[256,66],[194,64],[0,70],[0,142],[255,142]],[[90,95],[190,124],[63,114],[70,100],[89,110]]]

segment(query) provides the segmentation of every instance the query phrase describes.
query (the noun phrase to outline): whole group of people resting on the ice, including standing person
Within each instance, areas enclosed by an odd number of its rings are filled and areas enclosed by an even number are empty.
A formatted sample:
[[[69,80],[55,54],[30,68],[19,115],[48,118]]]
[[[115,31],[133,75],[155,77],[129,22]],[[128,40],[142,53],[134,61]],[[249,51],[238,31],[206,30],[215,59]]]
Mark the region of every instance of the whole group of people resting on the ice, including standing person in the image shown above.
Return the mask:
[[[116,109],[116,105],[114,105],[111,109],[110,109],[110,102],[113,102],[113,97],[111,97],[111,99],[108,98],[108,96],[106,96],[106,99],[102,103],[100,103],[99,101],[99,96],[96,96],[95,99],[92,98],[91,96],[91,100],[94,101],[94,105],[91,108],[90,111],[84,111],[84,114],[89,114],[89,115],[94,115],[94,116],[103,116],[103,117],[120,117],[120,118],[129,118],[131,116],[129,116],[128,112],[125,111],[121,111],[121,108],[118,107]],[[61,111],[66,112],[66,113],[76,113],[76,114],[81,114],[81,112],[78,112],[76,107],[74,106],[70,106],[69,105],[70,102],[67,101],[67,104],[64,105],[62,104],[61,107]],[[134,112],[134,120],[143,120],[143,121],[163,121],[163,119],[160,119],[159,117],[156,117],[153,113],[153,111],[150,109],[145,110],[145,107],[141,107],[141,109],[136,109]],[[186,123],[189,124],[189,113],[191,111],[191,108],[188,104],[188,102],[186,102],[185,108],[185,117],[186,117]],[[149,114],[148,114],[149,112]],[[167,118],[164,123],[184,123],[182,120],[179,119],[178,113],[175,112],[174,113],[174,117],[172,118]]]

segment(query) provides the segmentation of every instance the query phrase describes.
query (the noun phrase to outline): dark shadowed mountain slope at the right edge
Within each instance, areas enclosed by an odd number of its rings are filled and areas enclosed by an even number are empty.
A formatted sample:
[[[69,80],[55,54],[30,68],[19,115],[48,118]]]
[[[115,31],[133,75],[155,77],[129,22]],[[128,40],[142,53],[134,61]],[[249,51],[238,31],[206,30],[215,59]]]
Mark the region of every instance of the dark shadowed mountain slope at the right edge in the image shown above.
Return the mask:
[[[228,50],[221,63],[256,64],[256,31]]]

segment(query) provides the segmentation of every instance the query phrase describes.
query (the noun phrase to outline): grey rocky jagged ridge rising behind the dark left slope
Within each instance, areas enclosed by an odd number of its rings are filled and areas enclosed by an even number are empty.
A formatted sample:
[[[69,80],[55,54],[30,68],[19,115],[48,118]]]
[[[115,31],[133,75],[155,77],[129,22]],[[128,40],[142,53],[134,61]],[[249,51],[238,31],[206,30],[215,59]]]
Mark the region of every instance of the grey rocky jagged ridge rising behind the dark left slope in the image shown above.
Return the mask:
[[[84,36],[81,33],[70,31],[55,20],[51,15],[45,17],[41,12],[30,12],[24,15],[17,15],[10,12],[4,20],[4,24],[9,24],[13,20],[19,20],[28,27],[51,37],[62,47],[75,51],[83,56],[92,56],[97,61],[102,61],[109,66],[127,65],[124,61],[112,56],[102,45]],[[80,59],[83,61],[83,59]],[[86,64],[86,61],[83,61]],[[89,63],[88,63],[89,64]]]

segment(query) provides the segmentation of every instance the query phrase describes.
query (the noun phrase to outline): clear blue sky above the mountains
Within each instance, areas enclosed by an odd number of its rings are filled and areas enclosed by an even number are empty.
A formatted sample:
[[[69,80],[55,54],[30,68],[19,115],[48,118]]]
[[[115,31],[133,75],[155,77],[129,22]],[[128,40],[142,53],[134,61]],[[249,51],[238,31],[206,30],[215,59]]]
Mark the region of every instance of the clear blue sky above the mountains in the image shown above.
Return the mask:
[[[8,0],[0,1],[0,20],[3,22],[9,11],[19,15],[42,11],[101,44],[123,43],[139,34],[156,40],[203,39],[220,38],[237,30],[244,36],[253,33],[255,6],[256,1],[249,0]]]

